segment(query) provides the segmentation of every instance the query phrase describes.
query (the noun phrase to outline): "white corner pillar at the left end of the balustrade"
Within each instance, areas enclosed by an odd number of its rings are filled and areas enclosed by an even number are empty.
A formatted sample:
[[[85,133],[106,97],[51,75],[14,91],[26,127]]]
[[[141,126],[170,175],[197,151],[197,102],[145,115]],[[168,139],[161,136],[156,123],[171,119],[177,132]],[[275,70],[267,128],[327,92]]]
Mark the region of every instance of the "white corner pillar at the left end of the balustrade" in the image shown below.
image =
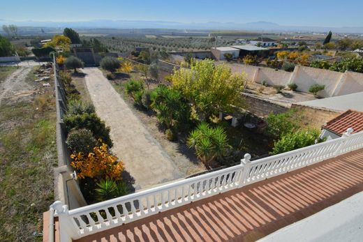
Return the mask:
[[[68,216],[68,206],[56,201],[50,205],[50,208],[54,209],[54,216],[58,217],[60,241],[72,242],[72,239],[77,239],[79,235],[75,231],[71,217]]]

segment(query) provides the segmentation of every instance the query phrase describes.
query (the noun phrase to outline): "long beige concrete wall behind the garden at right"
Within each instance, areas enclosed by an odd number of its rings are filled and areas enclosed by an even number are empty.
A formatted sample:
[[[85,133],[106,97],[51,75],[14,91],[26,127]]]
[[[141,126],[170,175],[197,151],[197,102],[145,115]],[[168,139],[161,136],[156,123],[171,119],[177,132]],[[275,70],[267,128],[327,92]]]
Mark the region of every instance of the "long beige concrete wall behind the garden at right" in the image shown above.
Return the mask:
[[[309,93],[309,87],[313,84],[325,85],[325,89],[318,93],[318,96],[323,98],[363,91],[363,73],[351,71],[339,73],[307,66],[295,66],[292,73],[237,63],[228,63],[228,66],[230,66],[233,73],[245,73],[250,82],[262,83],[267,81],[270,86],[286,86],[288,83],[293,82],[297,84],[297,91],[305,93]]]

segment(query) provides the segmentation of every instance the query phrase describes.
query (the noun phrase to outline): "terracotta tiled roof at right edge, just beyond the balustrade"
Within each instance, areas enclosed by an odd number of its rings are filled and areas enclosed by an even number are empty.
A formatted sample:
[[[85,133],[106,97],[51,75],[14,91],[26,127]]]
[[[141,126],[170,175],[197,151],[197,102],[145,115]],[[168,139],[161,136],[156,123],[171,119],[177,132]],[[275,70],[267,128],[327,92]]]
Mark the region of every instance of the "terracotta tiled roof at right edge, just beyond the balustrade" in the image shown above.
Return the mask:
[[[331,130],[337,135],[343,135],[348,128],[353,128],[353,133],[358,133],[363,130],[363,112],[349,109],[328,121],[323,128]]]

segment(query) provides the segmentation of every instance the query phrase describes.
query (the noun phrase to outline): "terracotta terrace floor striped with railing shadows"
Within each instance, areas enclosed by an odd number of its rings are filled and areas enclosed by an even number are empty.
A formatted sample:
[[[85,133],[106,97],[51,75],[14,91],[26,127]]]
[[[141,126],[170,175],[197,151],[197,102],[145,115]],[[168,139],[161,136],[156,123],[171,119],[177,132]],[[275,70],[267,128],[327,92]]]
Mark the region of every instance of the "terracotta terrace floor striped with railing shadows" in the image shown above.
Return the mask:
[[[361,191],[363,149],[77,242],[255,241]]]

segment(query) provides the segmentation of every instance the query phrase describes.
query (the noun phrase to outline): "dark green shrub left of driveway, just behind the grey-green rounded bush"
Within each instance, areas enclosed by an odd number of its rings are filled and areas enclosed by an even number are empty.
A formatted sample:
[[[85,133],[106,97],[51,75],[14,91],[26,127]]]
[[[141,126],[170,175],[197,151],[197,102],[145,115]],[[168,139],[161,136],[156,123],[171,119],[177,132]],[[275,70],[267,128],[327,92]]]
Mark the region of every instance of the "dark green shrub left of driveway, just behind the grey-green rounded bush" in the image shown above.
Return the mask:
[[[68,132],[74,128],[85,128],[87,130],[91,130],[96,139],[102,139],[102,141],[107,144],[108,147],[112,147],[110,127],[106,127],[105,122],[101,121],[101,119],[95,113],[66,115],[63,121]]]

